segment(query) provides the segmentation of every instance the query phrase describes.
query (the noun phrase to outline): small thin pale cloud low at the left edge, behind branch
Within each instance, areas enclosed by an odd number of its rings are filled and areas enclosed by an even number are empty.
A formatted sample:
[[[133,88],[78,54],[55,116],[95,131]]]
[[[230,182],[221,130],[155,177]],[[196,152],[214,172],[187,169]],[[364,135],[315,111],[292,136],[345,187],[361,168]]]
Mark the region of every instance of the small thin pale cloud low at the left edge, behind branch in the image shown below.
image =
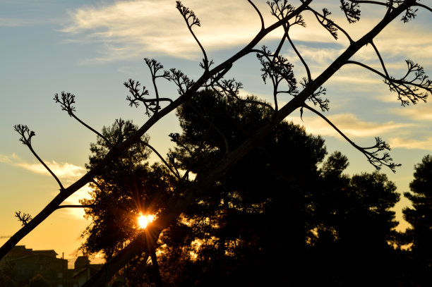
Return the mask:
[[[11,166],[18,166],[20,168],[32,171],[33,173],[43,174],[51,176],[47,169],[40,163],[28,163],[23,159],[20,159],[15,153],[12,155],[0,154],[0,163],[8,164]],[[68,164],[67,162],[56,162],[56,161],[45,161],[49,169],[51,169],[56,176],[66,180],[79,178],[84,175],[85,168],[83,166],[76,166],[74,164]]]

